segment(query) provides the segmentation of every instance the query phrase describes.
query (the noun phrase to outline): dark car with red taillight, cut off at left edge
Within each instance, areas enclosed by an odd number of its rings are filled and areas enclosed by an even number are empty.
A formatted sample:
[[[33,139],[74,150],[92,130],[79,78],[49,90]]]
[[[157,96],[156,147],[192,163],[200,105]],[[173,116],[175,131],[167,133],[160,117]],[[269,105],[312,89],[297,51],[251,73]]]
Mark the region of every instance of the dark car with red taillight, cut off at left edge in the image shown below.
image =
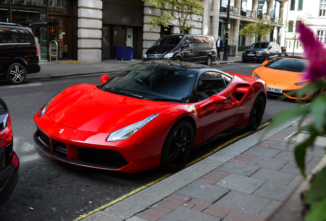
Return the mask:
[[[8,107],[0,98],[0,205],[8,200],[17,184],[18,167]]]

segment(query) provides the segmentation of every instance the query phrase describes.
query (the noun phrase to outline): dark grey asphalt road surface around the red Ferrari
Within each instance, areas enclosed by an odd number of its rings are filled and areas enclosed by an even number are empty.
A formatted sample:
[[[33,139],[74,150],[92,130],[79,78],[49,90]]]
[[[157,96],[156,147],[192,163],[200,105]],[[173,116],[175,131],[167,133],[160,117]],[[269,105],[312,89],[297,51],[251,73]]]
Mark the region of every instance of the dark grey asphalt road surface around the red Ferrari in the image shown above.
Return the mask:
[[[218,69],[251,75],[259,63],[220,64]],[[14,149],[20,160],[19,181],[9,201],[0,207],[0,221],[74,220],[121,195],[144,186],[166,173],[160,169],[136,174],[76,167],[51,159],[34,145],[33,117],[40,107],[62,89],[78,83],[99,84],[100,75],[27,81],[12,86],[0,82],[0,97],[7,103],[13,125]],[[263,121],[293,101],[269,98]],[[240,131],[241,134],[241,131]],[[227,137],[225,139],[231,139]],[[225,141],[225,139],[223,139]],[[194,151],[199,158],[220,140]],[[207,150],[207,151],[206,151]]]

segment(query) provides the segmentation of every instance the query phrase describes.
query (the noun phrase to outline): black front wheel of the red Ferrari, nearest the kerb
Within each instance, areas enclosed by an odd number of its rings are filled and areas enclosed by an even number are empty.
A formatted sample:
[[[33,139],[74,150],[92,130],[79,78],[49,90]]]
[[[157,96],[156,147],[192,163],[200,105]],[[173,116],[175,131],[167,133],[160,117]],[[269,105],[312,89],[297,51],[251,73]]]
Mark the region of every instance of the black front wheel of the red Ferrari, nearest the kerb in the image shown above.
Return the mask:
[[[194,146],[194,130],[188,121],[177,122],[169,131],[161,153],[161,167],[180,170],[188,161]]]

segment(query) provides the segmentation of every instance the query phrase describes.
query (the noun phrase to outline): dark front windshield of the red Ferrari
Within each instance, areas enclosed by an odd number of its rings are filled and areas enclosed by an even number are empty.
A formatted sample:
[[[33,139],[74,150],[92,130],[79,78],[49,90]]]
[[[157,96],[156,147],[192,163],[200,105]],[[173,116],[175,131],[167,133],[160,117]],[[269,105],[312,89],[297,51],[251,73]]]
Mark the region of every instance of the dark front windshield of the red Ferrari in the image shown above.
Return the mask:
[[[101,90],[148,100],[187,102],[185,98],[190,97],[196,78],[193,71],[170,65],[139,63],[120,72]]]

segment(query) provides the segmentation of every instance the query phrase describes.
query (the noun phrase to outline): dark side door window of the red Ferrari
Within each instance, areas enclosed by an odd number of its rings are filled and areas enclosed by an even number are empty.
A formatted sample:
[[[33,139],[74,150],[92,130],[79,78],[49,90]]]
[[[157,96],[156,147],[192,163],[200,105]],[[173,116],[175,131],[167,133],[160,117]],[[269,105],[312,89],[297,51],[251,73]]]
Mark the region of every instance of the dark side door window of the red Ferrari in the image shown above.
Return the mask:
[[[218,72],[205,72],[201,75],[196,96],[196,101],[205,100],[215,94],[220,93],[226,89],[230,83],[231,78]]]

